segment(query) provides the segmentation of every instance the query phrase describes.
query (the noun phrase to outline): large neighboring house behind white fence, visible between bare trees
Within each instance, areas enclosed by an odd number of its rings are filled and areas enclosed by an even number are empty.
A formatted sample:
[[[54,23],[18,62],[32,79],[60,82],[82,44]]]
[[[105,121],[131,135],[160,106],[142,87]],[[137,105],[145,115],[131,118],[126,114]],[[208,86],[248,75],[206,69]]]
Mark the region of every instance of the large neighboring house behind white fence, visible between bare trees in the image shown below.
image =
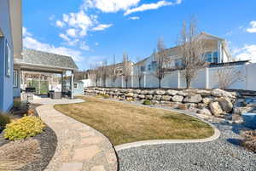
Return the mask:
[[[201,32],[198,36],[200,39],[204,40],[204,58],[210,64],[218,64],[231,61],[230,49],[226,41],[223,38],[215,37],[205,32]],[[179,47],[167,48],[167,56],[165,67],[168,69],[176,69],[182,66],[182,56],[179,52]],[[147,73],[154,72],[157,67],[157,61],[155,59],[155,54],[151,54],[148,58],[137,62],[135,68],[141,71],[146,71]]]

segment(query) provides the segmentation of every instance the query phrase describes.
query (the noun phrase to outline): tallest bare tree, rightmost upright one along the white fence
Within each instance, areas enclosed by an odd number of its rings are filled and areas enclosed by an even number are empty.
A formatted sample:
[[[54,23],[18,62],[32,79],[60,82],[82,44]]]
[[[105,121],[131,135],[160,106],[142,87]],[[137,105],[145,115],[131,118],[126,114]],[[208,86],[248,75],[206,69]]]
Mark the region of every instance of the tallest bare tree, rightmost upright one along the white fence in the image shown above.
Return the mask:
[[[204,59],[204,41],[198,38],[196,22],[194,19],[190,20],[189,28],[183,22],[183,29],[178,41],[178,47],[181,54],[183,64],[183,71],[181,71],[185,78],[187,88],[190,88],[192,80],[196,77],[197,72],[206,65]]]

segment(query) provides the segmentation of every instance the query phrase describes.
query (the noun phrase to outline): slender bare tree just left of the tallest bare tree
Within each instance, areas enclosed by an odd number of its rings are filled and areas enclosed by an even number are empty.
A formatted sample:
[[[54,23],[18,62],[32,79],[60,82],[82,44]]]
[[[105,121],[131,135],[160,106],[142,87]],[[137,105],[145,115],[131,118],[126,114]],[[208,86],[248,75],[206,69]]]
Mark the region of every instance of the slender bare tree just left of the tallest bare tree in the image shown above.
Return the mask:
[[[166,75],[165,60],[167,57],[166,46],[163,39],[159,39],[157,42],[157,52],[154,52],[154,59],[156,60],[156,68],[154,76],[159,80],[159,88],[161,88],[161,80]]]

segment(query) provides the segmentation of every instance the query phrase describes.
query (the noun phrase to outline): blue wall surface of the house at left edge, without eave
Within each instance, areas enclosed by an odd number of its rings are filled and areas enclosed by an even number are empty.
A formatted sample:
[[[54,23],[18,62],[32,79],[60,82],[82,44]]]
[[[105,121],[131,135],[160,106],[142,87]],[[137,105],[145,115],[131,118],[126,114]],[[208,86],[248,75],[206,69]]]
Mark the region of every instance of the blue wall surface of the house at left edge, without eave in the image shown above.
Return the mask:
[[[0,1],[0,29],[3,37],[0,37],[0,111],[8,111],[13,105],[13,43],[11,35],[9,1]],[[5,75],[5,46],[9,44],[11,51],[11,72],[10,76]]]

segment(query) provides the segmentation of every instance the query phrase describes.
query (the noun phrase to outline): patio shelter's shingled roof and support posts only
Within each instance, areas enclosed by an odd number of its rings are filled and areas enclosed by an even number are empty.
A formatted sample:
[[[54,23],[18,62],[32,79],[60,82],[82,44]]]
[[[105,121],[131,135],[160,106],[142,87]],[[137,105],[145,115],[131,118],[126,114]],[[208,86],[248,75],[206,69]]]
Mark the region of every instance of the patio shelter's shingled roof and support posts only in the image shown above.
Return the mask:
[[[70,93],[71,98],[73,99],[73,73],[74,71],[78,71],[78,66],[76,66],[70,56],[24,49],[22,59],[15,59],[15,71],[17,71],[17,75],[20,77],[22,77],[20,71],[61,74],[61,93],[63,93],[63,88],[65,86],[63,84],[63,76],[66,75],[67,71],[70,71]],[[18,77],[19,83],[20,77]]]

